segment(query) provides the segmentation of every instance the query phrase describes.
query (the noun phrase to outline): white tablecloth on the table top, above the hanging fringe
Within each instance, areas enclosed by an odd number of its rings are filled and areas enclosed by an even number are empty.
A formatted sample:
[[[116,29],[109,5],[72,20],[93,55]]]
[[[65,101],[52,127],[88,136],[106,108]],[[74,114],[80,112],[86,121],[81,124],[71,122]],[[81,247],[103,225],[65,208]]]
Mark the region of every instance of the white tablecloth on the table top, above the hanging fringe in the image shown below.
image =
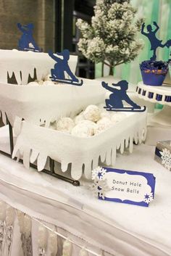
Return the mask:
[[[138,145],[133,154],[118,154],[114,167],[154,173],[155,198],[149,207],[100,201],[93,197],[88,181],[75,187],[26,170],[1,154],[0,199],[67,231],[72,239],[103,250],[104,255],[171,255],[171,173],[154,161],[154,146]]]

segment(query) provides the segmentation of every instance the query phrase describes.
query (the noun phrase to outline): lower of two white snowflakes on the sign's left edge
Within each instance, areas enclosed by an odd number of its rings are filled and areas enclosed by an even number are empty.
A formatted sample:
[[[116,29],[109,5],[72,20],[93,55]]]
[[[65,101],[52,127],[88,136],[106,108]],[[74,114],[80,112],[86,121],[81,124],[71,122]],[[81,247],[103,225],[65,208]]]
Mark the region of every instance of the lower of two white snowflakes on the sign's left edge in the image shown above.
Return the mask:
[[[109,186],[107,186],[107,180],[102,180],[99,178],[94,178],[91,189],[95,197],[101,197],[102,199],[104,199],[106,193],[110,191]]]

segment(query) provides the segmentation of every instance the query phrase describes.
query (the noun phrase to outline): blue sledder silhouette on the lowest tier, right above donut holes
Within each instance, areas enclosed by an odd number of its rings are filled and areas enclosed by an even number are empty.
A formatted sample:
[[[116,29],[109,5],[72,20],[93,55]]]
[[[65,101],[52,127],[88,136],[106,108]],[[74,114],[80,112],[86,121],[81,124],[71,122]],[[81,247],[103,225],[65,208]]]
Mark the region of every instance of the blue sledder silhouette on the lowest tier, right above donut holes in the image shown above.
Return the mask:
[[[126,91],[128,90],[128,82],[126,80],[121,80],[118,83],[112,83],[112,86],[118,86],[120,89],[112,88],[108,86],[108,83],[102,82],[101,85],[107,89],[108,91],[112,91],[110,94],[109,99],[106,99],[106,107],[107,111],[120,111],[120,112],[143,112],[146,110],[146,107],[141,109],[140,106],[135,104]],[[127,102],[131,107],[124,107],[123,102]]]

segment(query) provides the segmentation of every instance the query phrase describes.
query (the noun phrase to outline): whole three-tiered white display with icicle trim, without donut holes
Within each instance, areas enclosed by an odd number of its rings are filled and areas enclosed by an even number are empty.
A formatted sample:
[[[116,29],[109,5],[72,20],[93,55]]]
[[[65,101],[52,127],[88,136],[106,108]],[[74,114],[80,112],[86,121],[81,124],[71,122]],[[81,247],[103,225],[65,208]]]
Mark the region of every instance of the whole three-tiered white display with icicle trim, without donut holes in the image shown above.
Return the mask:
[[[49,54],[8,50],[1,50],[0,54],[0,110],[4,123],[6,118],[9,120],[11,137],[12,132],[16,136],[11,154],[22,159],[25,167],[29,168],[31,162],[36,163],[38,170],[45,170],[50,158],[53,176],[55,165],[51,160],[60,162],[63,172],[71,164],[72,178],[80,179],[83,173],[91,178],[91,170],[99,165],[99,160],[114,165],[117,149],[123,153],[129,148],[132,152],[134,141],[137,144],[145,140],[146,112],[127,113],[123,120],[90,138],[51,130],[50,122],[59,117],[73,117],[89,104],[104,104],[106,90],[101,82],[83,79],[83,86],[29,85],[29,76],[36,74],[42,80],[51,73],[55,62]],[[71,56],[69,65],[75,73],[77,57]],[[9,83],[12,75],[17,84]]]

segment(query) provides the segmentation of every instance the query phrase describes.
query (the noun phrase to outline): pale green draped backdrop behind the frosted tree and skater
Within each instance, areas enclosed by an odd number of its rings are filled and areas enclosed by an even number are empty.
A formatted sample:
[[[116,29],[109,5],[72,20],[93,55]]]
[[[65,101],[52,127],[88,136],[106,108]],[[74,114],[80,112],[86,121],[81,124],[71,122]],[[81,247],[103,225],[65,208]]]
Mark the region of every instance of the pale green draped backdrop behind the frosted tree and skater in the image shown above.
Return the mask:
[[[164,43],[171,39],[171,0],[131,0],[134,7],[138,9],[138,17],[144,17],[146,25],[156,21],[159,25],[157,37]],[[138,37],[144,41],[144,48],[139,56],[128,64],[123,64],[115,68],[114,77],[128,80],[131,83],[137,83],[141,80],[139,63],[150,59],[152,52],[148,39],[138,34]],[[171,47],[170,47],[171,48]],[[167,60],[170,55],[170,49],[158,49],[157,59]],[[96,65],[96,78],[101,76],[101,63]]]

